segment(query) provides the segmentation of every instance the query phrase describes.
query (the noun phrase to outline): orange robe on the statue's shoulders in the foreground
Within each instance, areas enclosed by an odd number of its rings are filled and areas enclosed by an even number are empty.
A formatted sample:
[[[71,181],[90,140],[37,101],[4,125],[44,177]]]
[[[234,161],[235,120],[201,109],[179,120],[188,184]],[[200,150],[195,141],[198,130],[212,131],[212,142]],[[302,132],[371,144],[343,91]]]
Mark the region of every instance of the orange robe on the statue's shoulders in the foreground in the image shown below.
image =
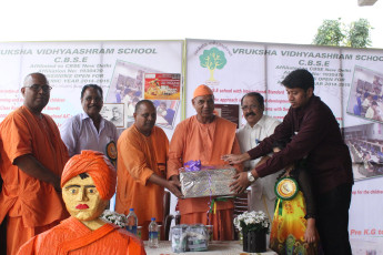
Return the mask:
[[[133,234],[107,223],[89,230],[75,217],[62,221],[56,227],[34,236],[21,246],[18,255],[64,254],[134,254],[145,255],[143,243]]]

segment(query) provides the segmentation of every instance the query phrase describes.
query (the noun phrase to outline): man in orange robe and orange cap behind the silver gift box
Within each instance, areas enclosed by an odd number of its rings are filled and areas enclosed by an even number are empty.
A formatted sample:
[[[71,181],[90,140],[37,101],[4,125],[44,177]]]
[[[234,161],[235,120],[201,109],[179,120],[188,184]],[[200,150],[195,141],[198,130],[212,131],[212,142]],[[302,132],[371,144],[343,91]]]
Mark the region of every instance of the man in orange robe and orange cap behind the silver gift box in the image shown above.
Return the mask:
[[[225,165],[224,152],[240,152],[234,123],[213,114],[214,95],[206,85],[195,89],[192,104],[196,115],[182,121],[170,143],[168,178],[179,181],[179,169],[188,161],[201,160],[202,165]],[[222,154],[223,153],[223,154]],[[242,165],[235,166],[242,171]],[[232,239],[232,201],[216,202],[216,213],[209,214],[210,197],[179,200],[182,224],[211,224],[214,239]]]

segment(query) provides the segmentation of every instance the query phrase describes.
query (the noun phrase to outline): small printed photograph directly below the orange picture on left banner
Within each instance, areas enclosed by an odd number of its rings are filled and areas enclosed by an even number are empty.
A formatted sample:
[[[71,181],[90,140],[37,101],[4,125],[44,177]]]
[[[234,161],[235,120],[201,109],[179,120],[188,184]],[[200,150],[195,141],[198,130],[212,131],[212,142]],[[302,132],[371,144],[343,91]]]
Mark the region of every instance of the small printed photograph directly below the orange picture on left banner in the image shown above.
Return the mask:
[[[152,100],[157,110],[155,124],[172,130],[175,125],[175,115],[180,101]]]

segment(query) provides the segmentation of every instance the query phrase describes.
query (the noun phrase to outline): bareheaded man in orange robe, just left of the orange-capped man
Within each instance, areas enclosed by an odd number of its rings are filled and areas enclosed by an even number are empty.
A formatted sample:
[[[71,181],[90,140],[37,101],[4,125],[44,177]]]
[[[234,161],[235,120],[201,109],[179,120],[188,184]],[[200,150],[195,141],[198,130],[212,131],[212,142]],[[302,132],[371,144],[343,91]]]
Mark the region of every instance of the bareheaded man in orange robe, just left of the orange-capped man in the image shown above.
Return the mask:
[[[179,186],[167,181],[169,141],[162,129],[154,126],[157,112],[153,103],[142,100],[135,105],[134,124],[118,141],[118,184],[115,211],[121,214],[134,208],[142,226],[141,237],[148,239],[151,217],[163,218],[163,192],[167,187],[175,196]]]

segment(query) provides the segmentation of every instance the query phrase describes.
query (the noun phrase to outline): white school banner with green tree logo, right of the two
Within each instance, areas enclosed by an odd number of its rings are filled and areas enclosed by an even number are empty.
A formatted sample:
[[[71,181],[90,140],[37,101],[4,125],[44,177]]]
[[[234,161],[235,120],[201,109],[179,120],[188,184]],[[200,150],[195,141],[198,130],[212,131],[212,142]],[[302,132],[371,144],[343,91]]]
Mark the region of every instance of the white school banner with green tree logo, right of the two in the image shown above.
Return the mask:
[[[383,50],[188,39],[185,53],[187,116],[195,114],[190,104],[193,90],[208,84],[215,103],[240,104],[243,94],[260,92],[265,114],[282,120],[290,104],[280,82],[298,68],[310,70],[314,93],[332,109],[352,152],[356,182],[350,236],[383,237]],[[377,103],[374,116],[361,105],[369,95]],[[244,123],[242,118],[240,125]]]

